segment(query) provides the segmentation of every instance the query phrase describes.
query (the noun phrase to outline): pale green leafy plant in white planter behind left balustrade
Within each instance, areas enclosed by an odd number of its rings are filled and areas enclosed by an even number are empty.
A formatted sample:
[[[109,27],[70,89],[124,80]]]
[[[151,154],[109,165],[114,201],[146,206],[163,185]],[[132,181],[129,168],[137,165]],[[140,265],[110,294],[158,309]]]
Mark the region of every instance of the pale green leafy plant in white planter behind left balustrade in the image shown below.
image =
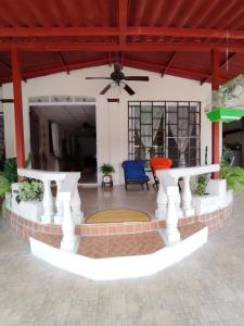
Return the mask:
[[[36,179],[26,179],[20,186],[16,201],[41,200],[43,196],[43,184]]]

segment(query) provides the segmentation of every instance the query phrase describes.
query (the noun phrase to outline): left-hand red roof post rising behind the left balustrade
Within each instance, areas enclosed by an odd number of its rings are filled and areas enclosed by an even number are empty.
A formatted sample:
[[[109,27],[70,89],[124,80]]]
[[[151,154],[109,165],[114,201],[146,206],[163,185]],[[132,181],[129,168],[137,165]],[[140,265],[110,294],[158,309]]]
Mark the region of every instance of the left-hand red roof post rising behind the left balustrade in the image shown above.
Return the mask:
[[[25,167],[25,143],[22,109],[22,78],[17,50],[11,51],[13,96],[14,96],[14,120],[16,138],[17,167]]]

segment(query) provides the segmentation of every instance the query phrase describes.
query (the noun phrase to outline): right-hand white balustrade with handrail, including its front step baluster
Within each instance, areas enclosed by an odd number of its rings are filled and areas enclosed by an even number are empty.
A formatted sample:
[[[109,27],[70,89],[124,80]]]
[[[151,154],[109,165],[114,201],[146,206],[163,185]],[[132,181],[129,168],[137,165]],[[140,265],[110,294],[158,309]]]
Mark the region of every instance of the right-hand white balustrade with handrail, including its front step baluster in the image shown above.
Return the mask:
[[[156,171],[159,180],[159,190],[155,215],[157,218],[165,220],[166,222],[166,229],[163,233],[163,237],[167,244],[172,244],[180,240],[180,234],[177,229],[178,218],[194,215],[190,188],[191,176],[217,171],[219,171],[218,164]],[[181,197],[178,187],[179,178],[183,178],[183,183],[181,183]]]

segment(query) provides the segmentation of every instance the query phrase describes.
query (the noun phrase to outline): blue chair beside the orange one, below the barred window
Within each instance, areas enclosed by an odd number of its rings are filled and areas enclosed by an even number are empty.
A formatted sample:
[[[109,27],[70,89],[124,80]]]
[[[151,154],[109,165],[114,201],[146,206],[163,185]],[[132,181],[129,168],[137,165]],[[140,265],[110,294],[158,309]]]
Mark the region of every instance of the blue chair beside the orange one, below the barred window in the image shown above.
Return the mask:
[[[128,184],[140,184],[142,189],[143,185],[146,184],[149,190],[150,178],[145,174],[145,162],[143,160],[124,161],[121,165],[124,168],[126,190]]]

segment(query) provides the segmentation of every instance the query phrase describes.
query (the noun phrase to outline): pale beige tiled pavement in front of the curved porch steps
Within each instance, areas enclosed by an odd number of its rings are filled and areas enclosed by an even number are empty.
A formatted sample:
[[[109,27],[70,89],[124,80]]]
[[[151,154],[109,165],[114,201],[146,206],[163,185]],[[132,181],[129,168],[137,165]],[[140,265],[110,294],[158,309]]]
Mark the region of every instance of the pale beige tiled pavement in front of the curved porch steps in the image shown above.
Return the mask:
[[[0,224],[0,325],[243,326],[244,196],[188,259],[151,277],[91,281],[29,253]]]

